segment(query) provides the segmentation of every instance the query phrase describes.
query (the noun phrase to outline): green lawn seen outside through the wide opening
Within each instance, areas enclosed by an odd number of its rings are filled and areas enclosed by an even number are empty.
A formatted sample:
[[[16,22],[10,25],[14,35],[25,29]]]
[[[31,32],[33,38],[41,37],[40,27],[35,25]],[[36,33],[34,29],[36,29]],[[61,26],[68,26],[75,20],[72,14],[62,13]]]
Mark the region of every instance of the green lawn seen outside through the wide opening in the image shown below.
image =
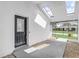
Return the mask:
[[[56,38],[68,38],[72,40],[77,40],[77,34],[75,32],[53,31],[53,33],[59,33],[59,34],[53,34],[53,36],[55,36]],[[71,37],[68,36],[69,33],[71,34]]]

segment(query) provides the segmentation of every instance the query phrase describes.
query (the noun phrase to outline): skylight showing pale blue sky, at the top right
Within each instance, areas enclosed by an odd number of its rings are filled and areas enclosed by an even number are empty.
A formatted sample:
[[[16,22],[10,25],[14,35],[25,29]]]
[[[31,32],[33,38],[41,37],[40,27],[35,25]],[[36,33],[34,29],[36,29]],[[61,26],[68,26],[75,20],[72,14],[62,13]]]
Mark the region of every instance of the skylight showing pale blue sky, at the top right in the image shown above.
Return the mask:
[[[74,13],[75,1],[66,1],[66,11],[67,11],[67,14]]]

